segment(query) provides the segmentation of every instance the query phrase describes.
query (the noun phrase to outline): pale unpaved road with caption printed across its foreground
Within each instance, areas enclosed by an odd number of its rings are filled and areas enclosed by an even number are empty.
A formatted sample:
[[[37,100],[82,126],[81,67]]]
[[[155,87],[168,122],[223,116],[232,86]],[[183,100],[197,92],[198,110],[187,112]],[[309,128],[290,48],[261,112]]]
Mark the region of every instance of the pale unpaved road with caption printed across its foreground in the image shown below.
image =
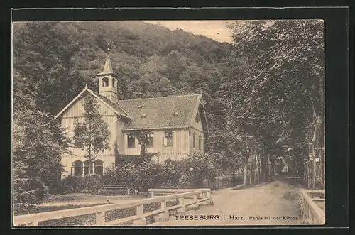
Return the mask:
[[[212,191],[214,206],[200,205],[198,210],[187,211],[185,217],[173,216],[167,222],[156,222],[150,225],[302,224],[297,204],[299,193],[299,185],[295,179],[278,179],[241,190],[224,189]],[[200,219],[202,216],[209,218]],[[266,217],[271,219],[266,219]]]

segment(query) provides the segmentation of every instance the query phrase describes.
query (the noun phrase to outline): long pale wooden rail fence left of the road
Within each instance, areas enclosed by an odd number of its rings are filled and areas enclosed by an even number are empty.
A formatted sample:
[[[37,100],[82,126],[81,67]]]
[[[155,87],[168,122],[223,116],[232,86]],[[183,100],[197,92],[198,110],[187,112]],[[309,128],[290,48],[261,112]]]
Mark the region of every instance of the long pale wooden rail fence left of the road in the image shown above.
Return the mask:
[[[163,190],[155,189],[151,192],[163,192]],[[175,193],[176,192],[176,193]],[[104,204],[95,207],[82,207],[75,209],[65,209],[53,212],[43,212],[36,214],[25,214],[13,217],[14,226],[38,226],[38,222],[44,222],[52,219],[62,219],[67,217],[77,217],[86,214],[96,214],[96,226],[114,226],[133,222],[133,225],[146,225],[146,217],[158,216],[159,221],[169,219],[169,212],[177,210],[178,213],[184,214],[186,207],[198,205],[201,202],[212,202],[211,190],[209,189],[194,189],[194,190],[170,190],[170,194],[162,197],[153,197],[144,200],[138,200],[133,202]],[[192,197],[193,202],[185,202],[185,198]],[[169,200],[179,200],[179,204],[167,207],[166,202]],[[143,213],[143,205],[151,204],[154,202],[160,202],[160,209],[152,212]],[[115,219],[111,221],[105,221],[105,212],[109,212],[115,209],[126,209],[136,207],[136,214],[131,217]]]

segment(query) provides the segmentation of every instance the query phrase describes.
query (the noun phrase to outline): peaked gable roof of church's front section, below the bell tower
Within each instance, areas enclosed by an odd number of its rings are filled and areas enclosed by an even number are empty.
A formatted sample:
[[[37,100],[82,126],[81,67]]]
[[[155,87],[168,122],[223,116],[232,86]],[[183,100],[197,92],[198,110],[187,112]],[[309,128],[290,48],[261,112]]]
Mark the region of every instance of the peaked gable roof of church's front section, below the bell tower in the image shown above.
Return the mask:
[[[99,99],[99,101],[101,101],[102,103],[107,105],[109,107],[109,109],[114,111],[115,114],[117,114],[119,116],[124,116],[127,119],[131,119],[131,117],[126,113],[126,111],[124,111],[124,109],[121,108],[121,106],[119,106],[119,104],[115,104],[114,102],[111,102],[111,100],[107,99],[106,97],[103,97],[102,95],[98,94],[97,92],[92,91],[91,89],[87,88],[87,86],[85,86],[85,88],[82,90],[82,92],[80,92],[80,94],[78,94],[77,97],[72,99],[72,101],[69,104],[67,104],[67,106],[65,106],[64,109],[62,109],[57,115],[55,115],[55,119],[57,119],[58,116],[60,116],[62,113],[64,113],[65,110],[69,109],[69,107],[72,106],[72,104],[74,104],[77,101],[77,99],[79,99],[85,92],[89,92],[89,94],[92,94],[94,97]]]

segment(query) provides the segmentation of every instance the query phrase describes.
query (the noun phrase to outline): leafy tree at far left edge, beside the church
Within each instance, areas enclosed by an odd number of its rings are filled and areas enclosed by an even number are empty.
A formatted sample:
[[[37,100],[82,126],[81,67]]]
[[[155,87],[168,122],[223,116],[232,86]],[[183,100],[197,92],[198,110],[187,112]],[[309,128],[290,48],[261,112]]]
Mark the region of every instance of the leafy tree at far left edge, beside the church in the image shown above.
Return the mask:
[[[54,117],[38,110],[28,79],[13,74],[13,204],[28,212],[60,182],[61,155],[69,139]]]

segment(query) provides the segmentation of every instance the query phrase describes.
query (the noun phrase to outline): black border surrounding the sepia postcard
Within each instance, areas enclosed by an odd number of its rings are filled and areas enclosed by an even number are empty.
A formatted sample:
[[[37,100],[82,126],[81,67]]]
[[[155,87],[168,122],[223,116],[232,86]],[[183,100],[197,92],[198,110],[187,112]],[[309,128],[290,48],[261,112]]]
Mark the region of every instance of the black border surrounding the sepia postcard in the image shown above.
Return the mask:
[[[94,20],[201,20],[201,19],[323,19],[325,21],[325,99],[326,99],[326,224],[324,226],[291,226],[300,228],[346,228],[349,227],[349,29],[348,9],[346,7],[305,7],[305,8],[121,8],[121,9],[13,9],[13,21],[94,21]],[[11,40],[9,40],[11,43]],[[11,47],[9,47],[11,48]],[[6,50],[10,60],[11,50]],[[4,55],[3,55],[4,58]],[[11,60],[6,66],[11,66]],[[6,73],[11,86],[11,70]],[[9,82],[9,83],[8,83]],[[6,86],[7,87],[7,86]],[[6,91],[4,98],[11,94]],[[5,100],[5,99],[4,99]],[[11,98],[6,99],[11,111]],[[2,104],[1,104],[2,106]],[[6,122],[11,123],[10,119]],[[11,126],[9,126],[11,128]],[[9,130],[11,133],[11,130]],[[1,131],[2,132],[2,131]],[[1,148],[2,151],[2,148]],[[11,154],[11,148],[10,152]],[[7,162],[5,162],[8,160]],[[11,164],[10,158],[4,158],[3,165]],[[7,172],[11,168],[7,167]],[[6,180],[11,185],[9,174]],[[2,180],[1,180],[2,181]],[[11,188],[11,187],[10,187]],[[2,191],[2,190],[1,190]],[[9,190],[11,192],[11,190]],[[9,193],[10,193],[9,192]],[[9,196],[9,195],[8,195]],[[11,197],[9,198],[11,199]],[[2,201],[2,200],[1,200]],[[1,202],[2,204],[3,202]],[[10,209],[11,202],[6,204]],[[9,211],[2,218],[10,218]],[[5,221],[7,221],[6,219]],[[4,222],[4,220],[3,220]],[[11,224],[11,218],[9,219]],[[9,226],[6,223],[1,225]],[[275,226],[228,226],[226,228],[273,228]],[[168,226],[161,228],[168,229]],[[174,227],[176,228],[176,227]],[[186,228],[186,227],[185,227]],[[202,227],[200,227],[202,228]],[[220,227],[209,226],[209,229]],[[280,228],[279,226],[277,228]],[[59,229],[59,228],[58,228]],[[114,228],[117,229],[117,228]],[[137,229],[137,228],[136,228]],[[143,228],[142,228],[143,229]],[[149,229],[149,227],[148,227]],[[151,229],[158,229],[151,227]],[[198,229],[200,230],[200,229]],[[318,229],[317,229],[318,230]],[[324,230],[324,229],[322,229]],[[45,231],[45,232],[48,232]],[[106,230],[104,232],[107,232]],[[115,231],[116,232],[116,231]],[[131,231],[133,232],[133,231]],[[183,231],[180,231],[183,232]],[[212,230],[213,232],[213,230]],[[288,230],[290,232],[290,230]],[[298,231],[302,232],[302,231]],[[323,231],[317,231],[322,233]]]

